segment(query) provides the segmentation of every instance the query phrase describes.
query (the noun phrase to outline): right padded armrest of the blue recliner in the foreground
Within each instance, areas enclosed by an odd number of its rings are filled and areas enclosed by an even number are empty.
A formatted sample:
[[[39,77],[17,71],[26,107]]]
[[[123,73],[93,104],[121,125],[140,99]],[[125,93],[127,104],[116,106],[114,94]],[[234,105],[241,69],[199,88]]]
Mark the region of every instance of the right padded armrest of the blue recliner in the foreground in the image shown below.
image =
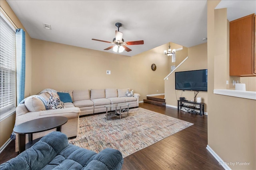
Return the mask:
[[[92,161],[84,168],[84,170],[91,169],[122,169],[124,158],[119,150],[106,148],[95,155]]]

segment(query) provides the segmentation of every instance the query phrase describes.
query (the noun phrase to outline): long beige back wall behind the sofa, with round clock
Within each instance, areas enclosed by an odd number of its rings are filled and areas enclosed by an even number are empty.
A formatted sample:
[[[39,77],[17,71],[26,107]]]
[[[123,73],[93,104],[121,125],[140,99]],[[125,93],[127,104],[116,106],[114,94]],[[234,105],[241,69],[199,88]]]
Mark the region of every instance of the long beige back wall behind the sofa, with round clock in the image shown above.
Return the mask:
[[[168,57],[156,47],[133,57],[32,39],[32,94],[52,88],[130,88],[141,95],[164,93]],[[151,64],[156,64],[156,71]],[[107,75],[106,70],[111,74]],[[158,90],[158,92],[157,92]]]

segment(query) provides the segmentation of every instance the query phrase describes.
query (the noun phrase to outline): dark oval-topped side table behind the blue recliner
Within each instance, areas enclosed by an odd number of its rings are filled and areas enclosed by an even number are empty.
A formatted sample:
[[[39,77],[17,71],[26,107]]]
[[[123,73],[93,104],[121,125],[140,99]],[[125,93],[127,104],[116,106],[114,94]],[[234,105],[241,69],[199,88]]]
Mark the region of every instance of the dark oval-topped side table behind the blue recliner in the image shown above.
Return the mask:
[[[43,117],[26,121],[14,127],[13,131],[19,136],[19,154],[26,150],[26,134],[28,134],[28,148],[34,145],[40,138],[33,140],[33,133],[48,131],[57,128],[61,131],[61,126],[67,123],[68,118],[63,116]]]

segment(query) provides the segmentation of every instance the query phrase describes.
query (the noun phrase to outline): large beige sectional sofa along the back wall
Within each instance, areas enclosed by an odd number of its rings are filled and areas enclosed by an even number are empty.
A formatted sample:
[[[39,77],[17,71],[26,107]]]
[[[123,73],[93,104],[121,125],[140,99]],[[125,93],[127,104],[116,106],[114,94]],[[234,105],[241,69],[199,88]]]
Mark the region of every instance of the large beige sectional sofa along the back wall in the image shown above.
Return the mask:
[[[26,98],[24,103],[16,107],[15,124],[19,125],[23,122],[42,117],[64,116],[68,118],[68,122],[62,125],[62,132],[68,138],[76,137],[79,130],[79,116],[81,115],[106,112],[105,106],[109,104],[129,103],[129,108],[138,107],[140,94],[134,94],[134,97],[125,97],[127,90],[130,89],[111,88],[59,91],[64,94],[70,94],[72,101],[65,102],[65,108],[51,110],[46,109],[45,102],[49,100],[52,93],[43,90],[39,95]],[[122,108],[127,108],[127,106]],[[54,130],[56,129],[34,133],[33,140],[43,137]],[[28,135],[26,135],[26,143],[28,143]],[[18,152],[18,149],[18,135],[16,134],[16,152]]]

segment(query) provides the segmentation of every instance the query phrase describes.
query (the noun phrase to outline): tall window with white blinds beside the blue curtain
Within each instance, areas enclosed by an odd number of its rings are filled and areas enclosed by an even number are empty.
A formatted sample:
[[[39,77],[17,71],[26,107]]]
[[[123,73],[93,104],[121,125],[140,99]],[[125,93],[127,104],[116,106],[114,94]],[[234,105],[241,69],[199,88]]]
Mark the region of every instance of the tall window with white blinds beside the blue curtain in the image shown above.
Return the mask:
[[[0,120],[16,107],[16,33],[0,15]]]

